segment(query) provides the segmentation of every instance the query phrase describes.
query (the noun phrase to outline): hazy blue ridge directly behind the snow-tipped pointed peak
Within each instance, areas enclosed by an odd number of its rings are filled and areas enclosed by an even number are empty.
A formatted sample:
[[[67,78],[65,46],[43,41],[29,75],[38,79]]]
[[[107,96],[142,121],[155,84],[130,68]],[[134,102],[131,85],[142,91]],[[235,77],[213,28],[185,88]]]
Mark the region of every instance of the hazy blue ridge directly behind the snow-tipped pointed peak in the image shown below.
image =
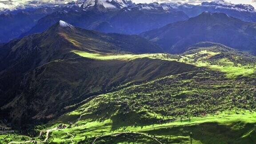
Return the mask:
[[[77,27],[95,29],[101,32],[117,32],[123,34],[139,34],[154,28],[160,28],[165,24],[187,20],[184,12],[168,11],[160,7],[160,4],[149,4],[152,9],[143,8],[148,4],[138,4],[125,7],[118,11],[103,11],[97,9],[54,12],[38,21],[38,23],[21,37],[36,32],[43,32],[59,20],[67,21]],[[83,7],[81,5],[80,7]],[[79,7],[79,9],[80,9]],[[94,8],[94,7],[93,7]],[[150,15],[150,16],[149,16]]]

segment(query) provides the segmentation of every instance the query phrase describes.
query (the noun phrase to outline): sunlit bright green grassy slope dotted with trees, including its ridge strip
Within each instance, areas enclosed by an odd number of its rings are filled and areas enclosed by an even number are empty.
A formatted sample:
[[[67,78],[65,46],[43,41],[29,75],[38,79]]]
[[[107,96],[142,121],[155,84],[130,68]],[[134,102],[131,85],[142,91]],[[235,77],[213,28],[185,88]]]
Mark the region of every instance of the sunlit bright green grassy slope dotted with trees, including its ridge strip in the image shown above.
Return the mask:
[[[152,137],[162,143],[190,143],[191,140],[193,144],[256,142],[253,61],[237,62],[227,53],[211,49],[187,52],[182,56],[75,53],[98,60],[141,57],[176,60],[209,70],[166,76],[96,96],[49,123],[48,128],[60,123],[76,124],[53,131],[48,142],[89,143],[96,137],[99,137],[96,143],[156,142]],[[120,132],[124,134],[118,135]]]

